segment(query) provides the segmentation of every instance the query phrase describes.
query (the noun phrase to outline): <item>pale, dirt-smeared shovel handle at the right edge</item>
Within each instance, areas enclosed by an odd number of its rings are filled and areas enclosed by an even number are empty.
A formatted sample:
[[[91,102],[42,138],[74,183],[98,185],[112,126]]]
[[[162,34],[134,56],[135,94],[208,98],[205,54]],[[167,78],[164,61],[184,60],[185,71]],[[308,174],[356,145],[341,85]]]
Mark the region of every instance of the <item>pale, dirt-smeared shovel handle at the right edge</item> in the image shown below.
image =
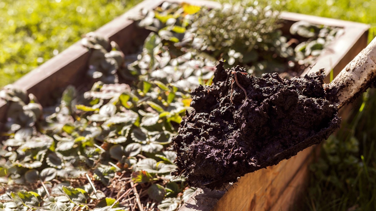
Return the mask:
[[[375,79],[376,38],[326,85],[326,98],[340,109],[365,92]]]

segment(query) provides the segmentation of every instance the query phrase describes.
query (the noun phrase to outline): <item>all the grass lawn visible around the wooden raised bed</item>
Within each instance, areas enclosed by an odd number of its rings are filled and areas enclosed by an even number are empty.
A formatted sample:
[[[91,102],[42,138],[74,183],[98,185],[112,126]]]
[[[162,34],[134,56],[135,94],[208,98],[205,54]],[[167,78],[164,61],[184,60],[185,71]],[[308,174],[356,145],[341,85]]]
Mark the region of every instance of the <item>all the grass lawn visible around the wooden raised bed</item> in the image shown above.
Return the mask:
[[[1,0],[0,87],[139,2]],[[284,10],[368,23],[369,41],[376,36],[376,0],[288,0]],[[311,166],[303,210],[376,209],[375,108],[376,94],[368,90],[352,110],[350,121],[324,143],[318,162]]]

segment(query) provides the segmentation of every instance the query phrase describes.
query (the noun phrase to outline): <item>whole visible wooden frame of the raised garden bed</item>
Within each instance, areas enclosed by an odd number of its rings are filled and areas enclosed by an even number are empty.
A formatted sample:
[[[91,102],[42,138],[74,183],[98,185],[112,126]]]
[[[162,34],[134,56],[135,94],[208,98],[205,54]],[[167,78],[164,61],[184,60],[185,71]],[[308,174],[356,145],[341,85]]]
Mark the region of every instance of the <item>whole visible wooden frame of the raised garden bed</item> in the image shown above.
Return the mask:
[[[132,53],[134,47],[142,44],[149,31],[140,29],[130,20],[142,8],[153,9],[166,0],[144,0],[125,14],[109,22],[96,32],[115,41],[124,53]],[[182,0],[167,0],[183,2]],[[217,8],[217,2],[190,0],[190,4]],[[282,30],[288,30],[296,21],[305,20],[309,23],[343,27],[344,33],[337,36],[316,59],[315,65],[307,68],[303,74],[326,69],[326,74],[334,70],[334,76],[350,62],[366,45],[368,25],[330,18],[283,12]],[[33,93],[42,105],[49,104],[52,93],[63,89],[69,84],[82,83],[87,71],[89,51],[80,44],[73,44],[67,50],[45,62],[14,83],[15,86]],[[6,102],[0,101],[0,119],[6,116]],[[180,210],[288,210],[293,208],[295,199],[304,191],[308,177],[308,165],[312,159],[315,146],[300,152],[289,160],[276,166],[249,173],[233,187],[225,191],[198,189]]]

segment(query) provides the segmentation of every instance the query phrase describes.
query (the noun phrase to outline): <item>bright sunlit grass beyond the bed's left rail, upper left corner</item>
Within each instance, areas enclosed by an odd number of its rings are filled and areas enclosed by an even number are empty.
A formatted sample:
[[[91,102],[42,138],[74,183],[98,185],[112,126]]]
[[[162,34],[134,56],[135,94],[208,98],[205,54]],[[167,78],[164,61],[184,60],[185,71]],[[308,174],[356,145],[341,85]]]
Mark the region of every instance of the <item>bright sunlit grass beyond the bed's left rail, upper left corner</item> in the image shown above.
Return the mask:
[[[0,87],[138,2],[141,0],[0,1]]]

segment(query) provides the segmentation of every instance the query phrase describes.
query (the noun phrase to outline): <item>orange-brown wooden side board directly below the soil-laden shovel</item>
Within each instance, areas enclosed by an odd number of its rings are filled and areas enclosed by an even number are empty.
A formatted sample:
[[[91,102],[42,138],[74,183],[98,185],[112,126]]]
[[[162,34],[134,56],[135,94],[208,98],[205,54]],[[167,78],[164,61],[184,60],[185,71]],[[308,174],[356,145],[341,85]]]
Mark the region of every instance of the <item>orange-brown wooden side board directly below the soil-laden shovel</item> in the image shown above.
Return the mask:
[[[306,158],[312,150],[313,147],[307,148],[276,166],[241,177],[237,185],[233,185],[233,188],[218,200],[212,210],[269,210],[282,195],[295,173],[306,163]]]

